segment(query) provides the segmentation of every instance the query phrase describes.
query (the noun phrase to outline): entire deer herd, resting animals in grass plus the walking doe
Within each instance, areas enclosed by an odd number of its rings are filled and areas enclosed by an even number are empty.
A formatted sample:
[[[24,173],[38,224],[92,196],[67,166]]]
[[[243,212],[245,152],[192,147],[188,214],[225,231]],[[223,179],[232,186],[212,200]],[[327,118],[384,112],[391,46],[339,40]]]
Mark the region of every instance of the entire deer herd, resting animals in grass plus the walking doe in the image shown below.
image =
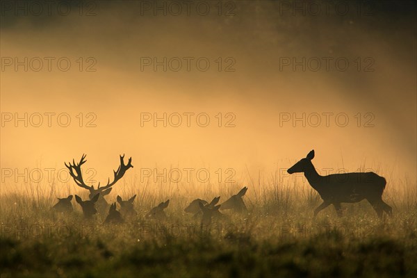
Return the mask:
[[[316,171],[311,160],[314,158],[314,150],[309,152],[305,158],[295,163],[290,167],[287,172],[293,174],[295,172],[303,172],[307,181],[309,181],[311,187],[315,189],[323,202],[314,211],[313,217],[319,211],[326,208],[330,204],[336,208],[336,213],[339,217],[342,216],[341,203],[354,203],[360,202],[363,199],[373,206],[379,218],[382,218],[385,212],[388,215],[392,215],[392,208],[382,200],[382,193],[386,186],[386,180],[384,177],[380,177],[374,172],[352,172],[344,174],[329,174],[327,176],[320,176]],[[114,172],[113,181],[106,186],[100,187],[100,183],[97,188],[94,186],[88,186],[83,181],[81,174],[81,165],[85,163],[85,154],[81,157],[79,163],[65,163],[65,166],[70,172],[70,176],[74,179],[77,186],[85,188],[89,191],[88,199],[81,199],[78,195],[75,195],[76,202],[81,206],[83,210],[84,218],[90,219],[93,215],[99,213],[100,215],[107,215],[105,224],[109,223],[122,223],[126,219],[132,219],[136,217],[137,212],[133,207],[133,201],[136,195],[130,199],[123,200],[122,197],[117,195],[117,203],[120,206],[120,211],[117,211],[117,204],[108,204],[104,196],[111,193],[112,186],[117,183],[126,170],[129,170],[132,158],[129,158],[127,164],[124,164],[124,156],[120,156],[120,166]],[[195,199],[191,202],[184,211],[186,213],[193,214],[195,218],[201,219],[202,225],[211,224],[213,218],[225,218],[224,214],[220,211],[230,210],[235,213],[247,213],[247,207],[243,202],[243,196],[247,191],[247,187],[242,188],[236,195],[231,196],[227,201],[222,204],[218,204],[220,196],[213,198],[211,202],[207,202],[204,199]],[[145,217],[154,220],[167,220],[165,214],[165,208],[170,204],[170,200],[161,202],[158,206],[152,208]],[[58,198],[58,203],[53,206],[53,209],[59,213],[71,213],[74,208],[72,206],[72,195],[66,198]]]

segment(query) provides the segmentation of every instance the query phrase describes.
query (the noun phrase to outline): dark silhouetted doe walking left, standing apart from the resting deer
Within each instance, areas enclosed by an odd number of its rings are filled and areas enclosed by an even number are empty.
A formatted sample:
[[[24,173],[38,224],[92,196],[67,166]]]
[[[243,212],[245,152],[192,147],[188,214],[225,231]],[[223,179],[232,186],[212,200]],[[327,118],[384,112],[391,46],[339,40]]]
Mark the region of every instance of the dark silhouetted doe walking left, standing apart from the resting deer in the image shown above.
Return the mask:
[[[367,199],[373,206],[379,218],[385,212],[392,214],[392,208],[382,201],[382,193],[386,185],[384,177],[380,177],[374,172],[366,173],[345,173],[329,174],[320,176],[314,168],[311,160],[314,158],[314,150],[307,154],[306,158],[298,161],[287,170],[288,174],[304,172],[304,176],[309,181],[320,197],[322,204],[314,211],[314,218],[319,211],[333,204],[337,215],[342,216],[341,203],[356,203]]]

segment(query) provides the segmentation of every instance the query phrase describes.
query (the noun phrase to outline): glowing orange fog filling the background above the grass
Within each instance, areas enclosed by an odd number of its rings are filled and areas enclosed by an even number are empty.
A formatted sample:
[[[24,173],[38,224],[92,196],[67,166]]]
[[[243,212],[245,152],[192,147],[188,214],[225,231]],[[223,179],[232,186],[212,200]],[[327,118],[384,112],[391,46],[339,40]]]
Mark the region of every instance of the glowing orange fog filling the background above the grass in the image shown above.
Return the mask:
[[[188,16],[181,1],[180,15],[154,15],[143,6],[150,1],[95,3],[80,15],[73,2],[65,16],[17,17],[2,6],[2,183],[15,181],[3,169],[62,168],[83,153],[102,182],[119,154],[133,157],[137,173],[233,168],[239,181],[242,172],[291,167],[311,149],[319,169],[416,180],[415,6],[352,1],[346,15],[308,7],[303,15],[289,1],[238,1],[218,15],[205,2],[210,13],[199,15],[193,2]],[[16,70],[16,57],[27,57],[27,71]],[[166,71],[154,57],[167,58]],[[27,126],[15,122],[25,113]],[[155,124],[164,113],[166,127]],[[303,113],[305,126],[293,122]]]

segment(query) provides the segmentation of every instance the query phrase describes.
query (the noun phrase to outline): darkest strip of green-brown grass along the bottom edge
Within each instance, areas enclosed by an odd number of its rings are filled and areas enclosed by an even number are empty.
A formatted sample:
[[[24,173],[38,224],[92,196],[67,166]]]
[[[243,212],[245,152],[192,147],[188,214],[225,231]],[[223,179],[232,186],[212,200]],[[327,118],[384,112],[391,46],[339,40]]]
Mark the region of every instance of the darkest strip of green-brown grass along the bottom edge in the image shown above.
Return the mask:
[[[415,240],[415,238],[414,238]],[[301,240],[101,238],[0,240],[1,277],[416,277],[416,243],[392,238]]]

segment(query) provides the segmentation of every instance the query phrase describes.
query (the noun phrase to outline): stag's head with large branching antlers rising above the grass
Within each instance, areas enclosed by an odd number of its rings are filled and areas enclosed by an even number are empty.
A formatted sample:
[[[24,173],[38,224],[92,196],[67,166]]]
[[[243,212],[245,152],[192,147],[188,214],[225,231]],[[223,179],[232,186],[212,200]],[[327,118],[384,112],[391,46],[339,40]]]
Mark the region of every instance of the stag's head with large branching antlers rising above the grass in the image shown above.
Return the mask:
[[[92,199],[92,197],[94,197],[95,195],[99,193],[100,197],[97,202],[97,209],[99,210],[99,213],[104,214],[106,213],[109,207],[108,203],[106,202],[106,199],[104,199],[104,196],[108,195],[108,193],[111,192],[112,190],[111,186],[114,186],[115,183],[117,183],[117,181],[122,179],[126,170],[129,170],[130,167],[133,168],[133,165],[131,165],[132,158],[129,158],[129,162],[126,165],[124,165],[124,155],[120,156],[120,166],[117,168],[117,171],[113,171],[114,172],[113,181],[110,182],[110,178],[109,178],[106,186],[100,187],[100,183],[99,183],[99,185],[97,186],[97,189],[94,188],[94,186],[86,185],[83,180],[83,174],[81,173],[81,165],[83,165],[85,162],[86,162],[85,154],[83,154],[79,163],[75,163],[73,159],[72,164],[68,163],[69,165],[67,165],[67,163],[65,163],[65,166],[68,168],[68,170],[70,170],[70,175],[72,179],[74,179],[76,185],[90,191],[90,195],[89,195],[90,199]]]

